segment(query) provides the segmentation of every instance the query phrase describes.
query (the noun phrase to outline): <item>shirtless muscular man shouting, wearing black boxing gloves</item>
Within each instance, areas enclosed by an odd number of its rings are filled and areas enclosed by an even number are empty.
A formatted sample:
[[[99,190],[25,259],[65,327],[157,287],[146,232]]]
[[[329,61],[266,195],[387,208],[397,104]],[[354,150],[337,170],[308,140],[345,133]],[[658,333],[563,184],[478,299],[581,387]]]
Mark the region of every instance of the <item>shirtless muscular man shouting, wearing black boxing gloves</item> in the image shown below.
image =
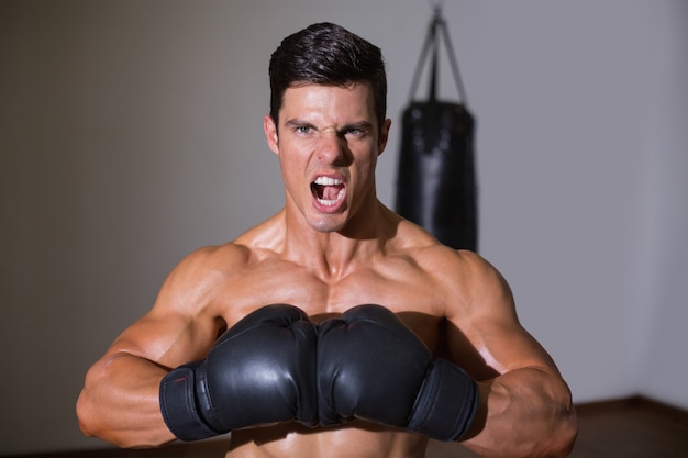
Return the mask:
[[[154,447],[231,431],[228,458],[421,458],[429,437],[565,456],[570,392],[504,279],[377,199],[379,49],[314,24],[273,54],[270,88],[285,208],[173,270],[88,371],[85,434]]]

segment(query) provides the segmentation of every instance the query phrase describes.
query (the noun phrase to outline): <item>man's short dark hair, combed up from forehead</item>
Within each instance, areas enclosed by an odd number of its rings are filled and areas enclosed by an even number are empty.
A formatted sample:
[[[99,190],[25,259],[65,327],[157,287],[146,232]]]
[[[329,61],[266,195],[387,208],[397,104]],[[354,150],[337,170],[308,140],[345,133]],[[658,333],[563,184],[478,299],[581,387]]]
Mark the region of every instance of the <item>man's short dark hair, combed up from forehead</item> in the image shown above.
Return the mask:
[[[369,82],[378,127],[387,111],[387,74],[380,48],[346,29],[322,22],[287,36],[270,57],[270,116],[278,124],[285,91],[301,83]]]

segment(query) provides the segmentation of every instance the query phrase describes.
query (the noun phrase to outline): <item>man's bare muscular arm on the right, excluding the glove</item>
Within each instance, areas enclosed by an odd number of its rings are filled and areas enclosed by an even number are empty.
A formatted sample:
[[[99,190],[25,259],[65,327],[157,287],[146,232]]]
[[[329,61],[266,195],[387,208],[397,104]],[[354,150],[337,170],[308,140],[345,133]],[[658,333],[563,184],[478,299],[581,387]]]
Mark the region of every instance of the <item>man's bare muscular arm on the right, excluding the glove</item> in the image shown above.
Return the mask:
[[[466,339],[497,376],[478,379],[480,407],[464,442],[485,457],[563,457],[578,426],[568,387],[552,358],[520,325],[506,280],[467,258],[466,302],[447,312],[450,351],[462,365]],[[466,367],[471,372],[476,368]]]

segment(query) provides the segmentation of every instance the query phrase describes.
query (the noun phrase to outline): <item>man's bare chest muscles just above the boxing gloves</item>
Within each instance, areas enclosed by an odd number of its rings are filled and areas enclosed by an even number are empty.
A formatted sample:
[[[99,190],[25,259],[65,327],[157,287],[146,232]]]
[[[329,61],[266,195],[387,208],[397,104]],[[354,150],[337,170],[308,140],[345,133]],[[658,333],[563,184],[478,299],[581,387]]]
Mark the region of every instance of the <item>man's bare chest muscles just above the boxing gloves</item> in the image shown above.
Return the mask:
[[[443,317],[443,299],[432,276],[418,269],[360,268],[324,280],[303,268],[259,266],[232,278],[215,295],[228,325],[260,306],[287,303],[314,322],[360,304],[379,304],[397,313],[431,348]]]

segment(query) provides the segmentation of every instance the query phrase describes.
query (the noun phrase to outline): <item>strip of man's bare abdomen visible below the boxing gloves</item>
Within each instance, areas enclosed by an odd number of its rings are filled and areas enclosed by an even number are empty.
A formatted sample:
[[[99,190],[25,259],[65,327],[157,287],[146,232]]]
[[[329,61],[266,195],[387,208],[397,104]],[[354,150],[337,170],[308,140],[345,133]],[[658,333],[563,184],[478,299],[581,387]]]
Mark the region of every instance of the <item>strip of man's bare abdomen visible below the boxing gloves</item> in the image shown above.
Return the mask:
[[[428,438],[352,422],[309,428],[296,423],[235,431],[226,458],[423,458]]]

